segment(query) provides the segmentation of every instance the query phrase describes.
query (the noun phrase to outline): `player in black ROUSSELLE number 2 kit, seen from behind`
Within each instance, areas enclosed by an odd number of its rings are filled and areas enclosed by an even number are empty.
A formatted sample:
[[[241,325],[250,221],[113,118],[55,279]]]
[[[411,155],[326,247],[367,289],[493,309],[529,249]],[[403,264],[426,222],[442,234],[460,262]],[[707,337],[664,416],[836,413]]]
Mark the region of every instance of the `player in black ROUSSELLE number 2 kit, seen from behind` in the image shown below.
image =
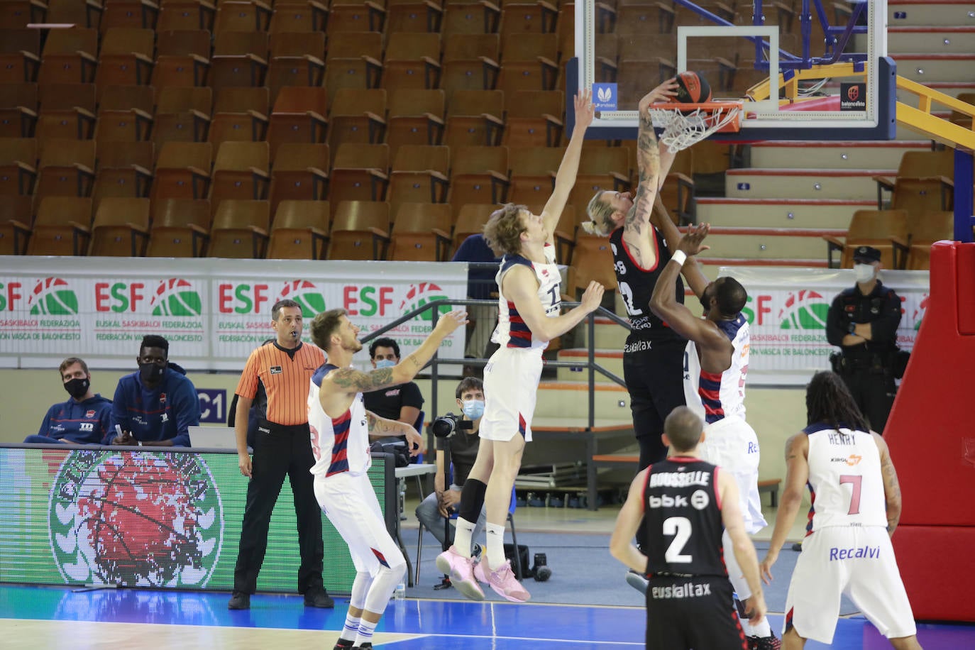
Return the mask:
[[[643,470],[616,518],[609,552],[649,576],[646,647],[661,650],[747,650],[722,555],[727,530],[752,590],[752,624],[765,615],[759,562],[745,532],[734,478],[697,455],[704,423],[686,406],[664,423],[672,456]],[[643,521],[643,554],[630,540]]]

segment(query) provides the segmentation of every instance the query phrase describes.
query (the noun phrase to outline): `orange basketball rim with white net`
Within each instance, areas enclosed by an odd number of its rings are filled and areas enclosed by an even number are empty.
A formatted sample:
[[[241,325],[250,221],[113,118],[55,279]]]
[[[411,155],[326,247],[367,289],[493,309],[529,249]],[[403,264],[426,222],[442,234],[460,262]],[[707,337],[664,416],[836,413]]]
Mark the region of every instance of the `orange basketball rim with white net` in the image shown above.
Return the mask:
[[[660,141],[677,153],[715,133],[737,133],[741,128],[740,101],[698,104],[657,103],[647,109],[654,127],[662,127]]]

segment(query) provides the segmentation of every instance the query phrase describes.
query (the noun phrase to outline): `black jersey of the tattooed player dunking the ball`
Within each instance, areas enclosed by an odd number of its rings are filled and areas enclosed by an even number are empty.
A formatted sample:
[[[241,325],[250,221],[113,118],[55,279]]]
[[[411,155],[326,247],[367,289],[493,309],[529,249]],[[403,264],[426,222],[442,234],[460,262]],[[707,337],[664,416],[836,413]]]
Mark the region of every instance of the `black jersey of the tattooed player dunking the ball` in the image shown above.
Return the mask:
[[[652,226],[649,226],[652,228]],[[650,297],[656,286],[660,274],[663,272],[671,254],[663,235],[653,228],[653,246],[656,261],[650,268],[643,268],[630,255],[630,250],[623,241],[623,228],[617,228],[609,234],[609,249],[612,250],[613,268],[616,271],[616,283],[626,304],[626,313],[630,317],[632,330],[626,338],[623,352],[640,352],[649,349],[648,342],[664,339],[683,340],[676,331],[664,324],[650,311]],[[678,277],[675,289],[677,301],[683,304],[683,280]]]

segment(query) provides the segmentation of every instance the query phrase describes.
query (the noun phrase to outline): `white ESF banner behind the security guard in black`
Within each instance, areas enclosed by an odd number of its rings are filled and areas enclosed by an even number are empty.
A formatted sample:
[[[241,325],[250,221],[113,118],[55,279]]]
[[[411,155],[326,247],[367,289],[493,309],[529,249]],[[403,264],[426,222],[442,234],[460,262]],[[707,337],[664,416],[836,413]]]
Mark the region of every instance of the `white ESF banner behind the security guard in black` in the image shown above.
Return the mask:
[[[803,385],[830,368],[830,354],[839,348],[826,339],[826,318],[837,294],[856,284],[852,270],[736,266],[722,267],[719,276],[732,276],[748,290],[750,383]],[[901,299],[897,344],[910,351],[927,307],[928,272],[881,270],[879,279]]]

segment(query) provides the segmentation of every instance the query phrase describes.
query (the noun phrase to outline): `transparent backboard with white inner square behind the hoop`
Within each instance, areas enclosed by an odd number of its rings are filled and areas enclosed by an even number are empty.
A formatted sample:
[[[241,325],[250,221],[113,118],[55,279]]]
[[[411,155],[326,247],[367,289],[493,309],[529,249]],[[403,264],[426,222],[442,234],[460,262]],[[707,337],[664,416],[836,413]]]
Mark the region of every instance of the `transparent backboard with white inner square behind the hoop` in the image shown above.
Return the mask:
[[[588,136],[634,138],[640,98],[694,70],[713,98],[744,100],[740,132],[714,139],[892,139],[886,20],[886,0],[577,1],[566,117],[571,90],[592,88]]]

